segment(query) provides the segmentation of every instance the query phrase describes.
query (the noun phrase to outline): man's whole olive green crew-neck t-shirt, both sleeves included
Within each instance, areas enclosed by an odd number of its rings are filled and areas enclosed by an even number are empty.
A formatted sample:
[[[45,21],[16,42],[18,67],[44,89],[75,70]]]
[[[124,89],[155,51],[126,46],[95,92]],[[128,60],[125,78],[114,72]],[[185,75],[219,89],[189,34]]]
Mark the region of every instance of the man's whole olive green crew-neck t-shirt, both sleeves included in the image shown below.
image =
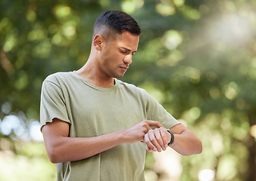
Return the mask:
[[[145,90],[116,78],[113,87],[95,87],[76,72],[58,72],[45,78],[41,127],[53,118],[70,123],[70,137],[96,137],[145,119],[159,121],[167,128],[179,124]],[[145,143],[121,144],[81,161],[56,164],[58,181],[145,180],[145,148]]]

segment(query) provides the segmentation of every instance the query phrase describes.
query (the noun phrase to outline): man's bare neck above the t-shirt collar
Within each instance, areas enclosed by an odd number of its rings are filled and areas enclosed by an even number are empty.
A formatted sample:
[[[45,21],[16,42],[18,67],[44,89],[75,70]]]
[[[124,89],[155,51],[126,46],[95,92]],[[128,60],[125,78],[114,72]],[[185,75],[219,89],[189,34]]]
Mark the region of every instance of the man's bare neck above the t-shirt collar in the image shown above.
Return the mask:
[[[86,64],[76,71],[76,74],[97,87],[112,87],[114,85],[114,78],[101,75],[100,70],[96,69],[95,62],[89,58]]]

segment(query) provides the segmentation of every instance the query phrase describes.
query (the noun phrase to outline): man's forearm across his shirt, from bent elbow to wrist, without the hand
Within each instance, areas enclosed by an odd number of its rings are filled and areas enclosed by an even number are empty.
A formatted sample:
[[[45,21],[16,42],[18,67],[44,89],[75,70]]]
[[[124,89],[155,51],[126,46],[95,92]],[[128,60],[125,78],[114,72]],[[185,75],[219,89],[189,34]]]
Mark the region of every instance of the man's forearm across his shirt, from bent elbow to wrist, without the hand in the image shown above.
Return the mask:
[[[98,137],[58,137],[45,146],[52,163],[78,161],[124,143],[122,131]]]

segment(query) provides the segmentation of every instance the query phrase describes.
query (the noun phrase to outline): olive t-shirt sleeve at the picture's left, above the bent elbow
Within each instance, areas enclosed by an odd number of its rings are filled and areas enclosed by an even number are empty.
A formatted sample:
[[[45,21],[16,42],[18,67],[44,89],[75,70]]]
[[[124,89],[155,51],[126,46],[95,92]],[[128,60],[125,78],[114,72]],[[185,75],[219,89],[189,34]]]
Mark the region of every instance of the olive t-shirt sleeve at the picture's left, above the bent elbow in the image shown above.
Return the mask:
[[[40,103],[40,124],[42,127],[53,118],[70,123],[61,86],[56,78],[46,78],[42,83]]]

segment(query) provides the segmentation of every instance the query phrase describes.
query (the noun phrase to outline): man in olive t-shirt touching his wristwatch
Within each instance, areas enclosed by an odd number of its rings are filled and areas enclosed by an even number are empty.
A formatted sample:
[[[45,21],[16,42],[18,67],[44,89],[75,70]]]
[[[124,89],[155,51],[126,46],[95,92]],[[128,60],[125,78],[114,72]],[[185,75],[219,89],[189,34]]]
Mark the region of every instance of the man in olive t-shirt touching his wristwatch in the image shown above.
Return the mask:
[[[195,134],[145,90],[117,80],[132,63],[140,33],[128,14],[105,11],[95,22],[86,64],[42,84],[42,133],[58,180],[140,181],[145,150],[169,145],[182,155],[201,152]]]

